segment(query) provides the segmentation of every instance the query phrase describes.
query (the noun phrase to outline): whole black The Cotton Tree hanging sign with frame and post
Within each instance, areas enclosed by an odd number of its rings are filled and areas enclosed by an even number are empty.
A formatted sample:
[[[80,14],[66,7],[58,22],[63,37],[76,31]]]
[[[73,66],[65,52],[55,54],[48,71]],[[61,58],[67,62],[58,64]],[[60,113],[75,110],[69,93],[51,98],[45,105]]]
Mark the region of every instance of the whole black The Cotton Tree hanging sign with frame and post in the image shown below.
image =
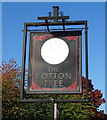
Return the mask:
[[[59,12],[58,6],[53,6],[53,16],[50,12],[49,16],[38,17],[38,20],[45,20],[45,22],[24,23],[20,99],[24,103],[51,102],[52,120],[58,118],[57,103],[59,102],[89,102],[87,21],[66,21],[66,19],[69,19],[69,16],[64,16],[62,11]],[[82,27],[66,28],[72,25],[82,25]],[[31,29],[35,26],[46,26],[47,29]],[[62,29],[52,29],[51,26],[62,26]],[[85,31],[86,98],[76,100],[26,99],[25,95],[82,93],[83,30]],[[28,87],[25,90],[28,31],[30,32]]]

